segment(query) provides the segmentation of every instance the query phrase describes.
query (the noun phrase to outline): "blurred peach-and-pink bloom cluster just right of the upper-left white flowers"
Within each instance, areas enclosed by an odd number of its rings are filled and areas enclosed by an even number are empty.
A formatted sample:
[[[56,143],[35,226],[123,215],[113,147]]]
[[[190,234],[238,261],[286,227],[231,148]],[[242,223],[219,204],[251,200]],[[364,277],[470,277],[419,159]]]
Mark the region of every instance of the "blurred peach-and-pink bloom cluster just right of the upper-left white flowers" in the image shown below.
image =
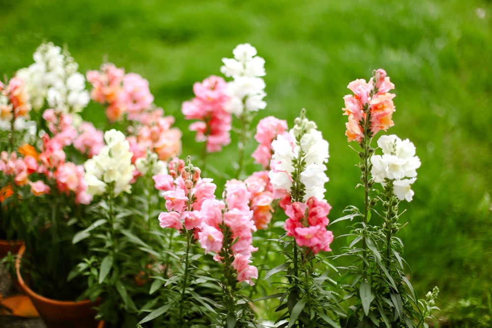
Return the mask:
[[[100,71],[87,72],[87,81],[92,84],[91,97],[106,104],[106,116],[112,122],[123,119],[139,120],[152,108],[154,96],[149,82],[136,73],[124,74],[122,68],[105,63]]]

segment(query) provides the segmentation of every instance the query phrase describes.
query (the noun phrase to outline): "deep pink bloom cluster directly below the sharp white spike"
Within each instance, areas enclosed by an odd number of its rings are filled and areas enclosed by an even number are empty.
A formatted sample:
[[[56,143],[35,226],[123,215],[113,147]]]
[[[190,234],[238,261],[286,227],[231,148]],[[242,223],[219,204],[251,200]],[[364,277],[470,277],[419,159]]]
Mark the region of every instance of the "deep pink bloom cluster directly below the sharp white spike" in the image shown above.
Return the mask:
[[[299,246],[307,246],[314,254],[329,252],[333,233],[326,230],[331,206],[326,201],[311,197],[307,204],[294,202],[285,209],[289,217],[284,224],[287,236],[294,237]]]

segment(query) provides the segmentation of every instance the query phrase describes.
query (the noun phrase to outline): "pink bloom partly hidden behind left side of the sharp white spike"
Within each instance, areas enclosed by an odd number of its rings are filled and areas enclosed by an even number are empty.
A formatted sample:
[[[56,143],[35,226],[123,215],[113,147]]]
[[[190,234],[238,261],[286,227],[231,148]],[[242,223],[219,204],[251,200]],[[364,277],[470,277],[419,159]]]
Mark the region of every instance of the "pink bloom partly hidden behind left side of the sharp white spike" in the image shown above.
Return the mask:
[[[270,160],[273,155],[272,141],[277,139],[277,135],[279,134],[284,138],[288,138],[287,121],[284,119],[277,119],[274,116],[269,116],[261,119],[256,126],[254,139],[259,145],[253,151],[251,156],[255,159],[255,162],[261,164],[264,169],[270,167]]]

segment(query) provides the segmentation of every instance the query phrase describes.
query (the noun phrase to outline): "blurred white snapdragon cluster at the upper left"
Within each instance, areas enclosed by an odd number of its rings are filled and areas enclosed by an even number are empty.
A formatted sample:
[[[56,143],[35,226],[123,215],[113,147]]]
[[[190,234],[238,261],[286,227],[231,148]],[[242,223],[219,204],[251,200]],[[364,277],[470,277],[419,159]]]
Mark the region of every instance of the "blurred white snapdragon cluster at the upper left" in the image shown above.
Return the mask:
[[[84,75],[66,50],[53,43],[40,45],[33,55],[34,63],[17,71],[26,81],[32,107],[41,109],[45,100],[49,107],[65,113],[78,113],[89,103]]]

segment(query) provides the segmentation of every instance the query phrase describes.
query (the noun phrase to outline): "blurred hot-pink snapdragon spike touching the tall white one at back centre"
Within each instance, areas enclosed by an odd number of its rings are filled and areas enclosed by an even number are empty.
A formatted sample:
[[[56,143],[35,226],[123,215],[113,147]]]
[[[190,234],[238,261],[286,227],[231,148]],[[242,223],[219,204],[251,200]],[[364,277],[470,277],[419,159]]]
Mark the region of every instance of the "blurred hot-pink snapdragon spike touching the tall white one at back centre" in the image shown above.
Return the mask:
[[[195,98],[185,101],[182,112],[185,119],[198,119],[189,130],[196,131],[196,141],[206,141],[208,152],[215,152],[231,142],[232,115],[225,110],[229,96],[225,94],[227,83],[218,76],[211,76],[193,85]]]

